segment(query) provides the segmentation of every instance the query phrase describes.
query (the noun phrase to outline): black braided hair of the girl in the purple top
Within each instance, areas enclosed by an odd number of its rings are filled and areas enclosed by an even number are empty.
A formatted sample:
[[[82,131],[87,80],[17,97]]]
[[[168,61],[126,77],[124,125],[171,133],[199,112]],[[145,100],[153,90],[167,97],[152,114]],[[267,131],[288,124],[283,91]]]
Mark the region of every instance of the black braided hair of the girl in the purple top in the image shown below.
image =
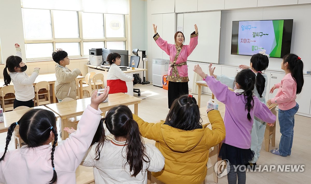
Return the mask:
[[[252,120],[252,117],[250,115],[251,109],[254,107],[254,99],[253,99],[253,90],[255,85],[256,75],[253,71],[244,69],[241,70],[236,76],[235,76],[235,82],[237,82],[240,86],[240,89],[244,90],[243,93],[237,94],[237,95],[244,95],[245,100],[245,110],[248,111],[247,113],[247,119],[248,121]]]

